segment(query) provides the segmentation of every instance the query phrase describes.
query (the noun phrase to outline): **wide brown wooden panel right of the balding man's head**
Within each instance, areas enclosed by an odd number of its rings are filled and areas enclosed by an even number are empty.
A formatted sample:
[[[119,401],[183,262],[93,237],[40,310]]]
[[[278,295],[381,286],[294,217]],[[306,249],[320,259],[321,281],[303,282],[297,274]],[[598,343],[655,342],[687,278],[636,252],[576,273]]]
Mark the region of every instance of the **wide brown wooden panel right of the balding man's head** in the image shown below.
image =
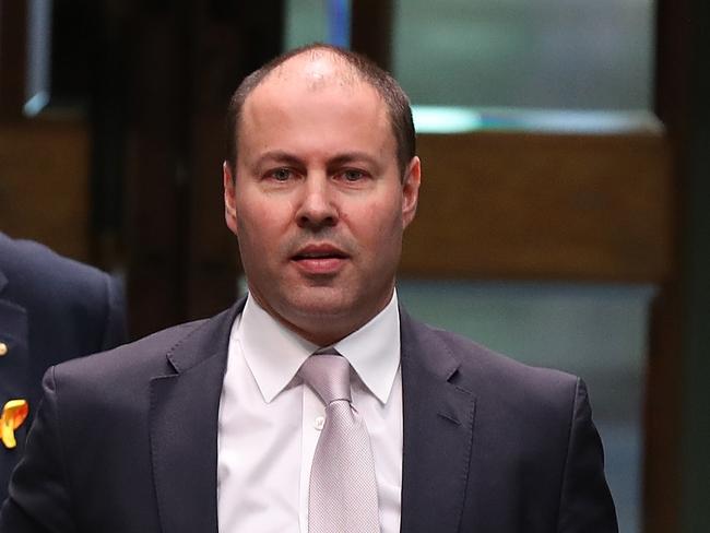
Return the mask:
[[[401,273],[658,282],[671,260],[661,134],[419,135]]]

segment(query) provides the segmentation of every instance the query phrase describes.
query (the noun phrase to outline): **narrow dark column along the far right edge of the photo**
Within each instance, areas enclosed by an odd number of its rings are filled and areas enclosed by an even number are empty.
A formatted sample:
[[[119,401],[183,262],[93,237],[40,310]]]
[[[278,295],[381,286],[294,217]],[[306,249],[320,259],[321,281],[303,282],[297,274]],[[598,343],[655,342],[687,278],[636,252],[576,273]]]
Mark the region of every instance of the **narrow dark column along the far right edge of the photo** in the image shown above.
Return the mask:
[[[681,530],[710,531],[710,4],[690,12],[688,105],[682,179],[683,416]]]

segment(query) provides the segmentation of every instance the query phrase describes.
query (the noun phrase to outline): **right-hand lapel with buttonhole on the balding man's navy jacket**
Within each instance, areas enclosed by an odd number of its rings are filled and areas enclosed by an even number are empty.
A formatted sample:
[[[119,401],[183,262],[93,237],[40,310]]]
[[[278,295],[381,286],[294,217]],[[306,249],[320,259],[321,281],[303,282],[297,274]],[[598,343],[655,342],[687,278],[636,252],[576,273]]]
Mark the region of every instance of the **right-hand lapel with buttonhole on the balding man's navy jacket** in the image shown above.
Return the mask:
[[[458,531],[465,498],[475,399],[451,382],[459,363],[436,334],[400,310],[404,443],[402,525]]]

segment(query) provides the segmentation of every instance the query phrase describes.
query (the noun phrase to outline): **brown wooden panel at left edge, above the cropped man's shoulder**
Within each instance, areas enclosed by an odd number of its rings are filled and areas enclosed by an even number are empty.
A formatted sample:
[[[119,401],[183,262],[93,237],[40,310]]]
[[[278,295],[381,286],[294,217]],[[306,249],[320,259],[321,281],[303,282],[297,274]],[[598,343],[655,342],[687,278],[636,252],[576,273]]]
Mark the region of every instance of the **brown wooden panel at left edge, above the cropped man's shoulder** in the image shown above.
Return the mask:
[[[87,260],[88,135],[82,120],[0,126],[0,229]]]

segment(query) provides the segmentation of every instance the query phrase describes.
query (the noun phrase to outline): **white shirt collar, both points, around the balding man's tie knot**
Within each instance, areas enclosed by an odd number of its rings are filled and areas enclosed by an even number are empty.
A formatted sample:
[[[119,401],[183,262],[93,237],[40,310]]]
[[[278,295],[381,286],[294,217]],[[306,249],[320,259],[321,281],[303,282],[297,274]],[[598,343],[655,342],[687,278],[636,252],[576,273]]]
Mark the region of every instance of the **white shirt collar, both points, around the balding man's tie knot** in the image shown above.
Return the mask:
[[[294,379],[300,365],[319,348],[269,315],[249,295],[235,328],[265,402]],[[387,403],[400,366],[400,313],[397,293],[369,322],[333,345],[377,399]]]

